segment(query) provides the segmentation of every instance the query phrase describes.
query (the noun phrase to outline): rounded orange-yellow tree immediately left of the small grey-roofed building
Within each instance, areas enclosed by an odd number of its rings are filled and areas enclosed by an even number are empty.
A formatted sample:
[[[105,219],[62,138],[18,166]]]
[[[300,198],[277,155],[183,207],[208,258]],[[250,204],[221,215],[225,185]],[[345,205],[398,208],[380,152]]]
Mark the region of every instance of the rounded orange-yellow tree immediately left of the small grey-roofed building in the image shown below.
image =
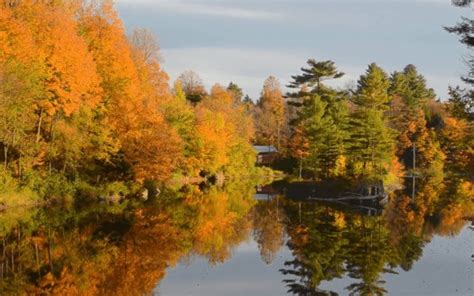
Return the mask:
[[[250,143],[252,118],[242,103],[235,104],[231,91],[214,85],[210,95],[196,106],[197,150],[195,159],[202,171],[240,178],[255,163]]]

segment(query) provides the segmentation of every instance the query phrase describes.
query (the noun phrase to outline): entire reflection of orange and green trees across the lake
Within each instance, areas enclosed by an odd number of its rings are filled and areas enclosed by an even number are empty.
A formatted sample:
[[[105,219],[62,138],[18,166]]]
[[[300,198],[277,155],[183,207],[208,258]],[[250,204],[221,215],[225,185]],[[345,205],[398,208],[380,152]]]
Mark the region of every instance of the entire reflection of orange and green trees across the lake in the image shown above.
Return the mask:
[[[351,295],[386,294],[383,275],[408,271],[434,234],[455,235],[472,217],[472,184],[417,181],[378,215],[351,207],[275,197],[253,186],[164,192],[146,204],[89,204],[0,215],[0,294],[144,295],[166,270],[193,256],[229,260],[253,237],[262,261],[285,245],[288,293],[337,295],[324,282],[349,277]]]

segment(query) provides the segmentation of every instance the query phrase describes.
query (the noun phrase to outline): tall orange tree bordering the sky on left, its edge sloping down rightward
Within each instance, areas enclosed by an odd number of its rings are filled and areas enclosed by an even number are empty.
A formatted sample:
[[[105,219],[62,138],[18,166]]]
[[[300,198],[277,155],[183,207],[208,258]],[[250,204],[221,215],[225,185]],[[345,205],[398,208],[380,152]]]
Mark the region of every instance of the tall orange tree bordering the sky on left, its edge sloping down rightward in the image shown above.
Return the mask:
[[[181,140],[159,112],[169,90],[157,45],[144,31],[135,33],[131,44],[109,2],[86,4],[80,24],[103,80],[105,115],[125,161],[138,180],[166,180],[179,161]]]

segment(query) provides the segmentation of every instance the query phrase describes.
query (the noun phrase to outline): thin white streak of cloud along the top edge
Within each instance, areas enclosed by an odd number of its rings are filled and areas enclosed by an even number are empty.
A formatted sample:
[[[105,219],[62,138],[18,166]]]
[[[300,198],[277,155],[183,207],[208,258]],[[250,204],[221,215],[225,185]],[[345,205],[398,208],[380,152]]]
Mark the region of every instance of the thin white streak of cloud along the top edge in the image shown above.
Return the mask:
[[[118,3],[147,4],[162,11],[248,20],[280,20],[281,12],[248,9],[224,5],[222,1],[202,2],[190,0],[119,0]]]

